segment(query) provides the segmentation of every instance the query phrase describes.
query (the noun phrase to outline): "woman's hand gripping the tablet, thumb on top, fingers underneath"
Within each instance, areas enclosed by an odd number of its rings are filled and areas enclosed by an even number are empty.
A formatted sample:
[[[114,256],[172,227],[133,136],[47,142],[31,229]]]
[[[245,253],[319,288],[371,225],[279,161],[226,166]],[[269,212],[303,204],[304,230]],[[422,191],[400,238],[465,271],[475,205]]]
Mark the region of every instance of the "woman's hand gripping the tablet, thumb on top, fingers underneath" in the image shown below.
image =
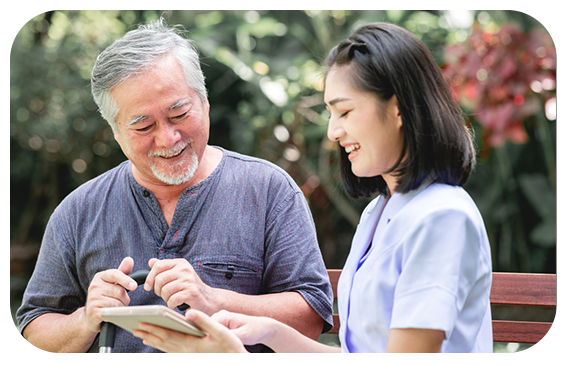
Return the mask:
[[[142,323],[141,330],[134,331],[134,336],[144,340],[145,345],[164,352],[247,352],[234,333],[203,312],[190,309],[186,317],[206,336],[187,335],[147,323]]]

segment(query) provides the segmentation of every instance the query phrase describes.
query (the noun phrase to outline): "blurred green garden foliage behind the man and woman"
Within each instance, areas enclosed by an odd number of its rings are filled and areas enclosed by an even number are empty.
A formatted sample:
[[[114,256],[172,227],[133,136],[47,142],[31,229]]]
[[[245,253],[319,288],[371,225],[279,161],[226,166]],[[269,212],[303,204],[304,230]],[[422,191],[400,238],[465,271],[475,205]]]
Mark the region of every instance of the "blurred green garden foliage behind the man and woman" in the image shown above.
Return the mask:
[[[201,53],[210,144],[289,172],[310,204],[327,268],[342,268],[369,200],[342,188],[326,138],[321,65],[360,25],[412,31],[475,131],[478,165],[465,189],[484,217],[494,271],[556,272],[555,11],[11,11],[11,352],[26,351],[14,313],[49,216],[77,186],[125,160],[91,97],[95,59],[161,15],[183,25]],[[493,308],[494,319],[555,316],[555,309]],[[321,341],[338,344],[332,335]]]

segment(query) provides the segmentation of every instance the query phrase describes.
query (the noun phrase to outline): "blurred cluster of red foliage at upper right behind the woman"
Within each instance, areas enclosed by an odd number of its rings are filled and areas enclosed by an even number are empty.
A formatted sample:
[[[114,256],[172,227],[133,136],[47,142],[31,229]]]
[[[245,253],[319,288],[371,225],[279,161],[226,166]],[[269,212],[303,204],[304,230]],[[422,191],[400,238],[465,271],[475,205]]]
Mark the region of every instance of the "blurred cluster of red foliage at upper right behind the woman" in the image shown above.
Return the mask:
[[[489,147],[527,140],[522,121],[553,97],[552,43],[549,34],[527,34],[508,24],[497,33],[475,26],[469,39],[446,48],[442,69],[453,96],[472,109]]]

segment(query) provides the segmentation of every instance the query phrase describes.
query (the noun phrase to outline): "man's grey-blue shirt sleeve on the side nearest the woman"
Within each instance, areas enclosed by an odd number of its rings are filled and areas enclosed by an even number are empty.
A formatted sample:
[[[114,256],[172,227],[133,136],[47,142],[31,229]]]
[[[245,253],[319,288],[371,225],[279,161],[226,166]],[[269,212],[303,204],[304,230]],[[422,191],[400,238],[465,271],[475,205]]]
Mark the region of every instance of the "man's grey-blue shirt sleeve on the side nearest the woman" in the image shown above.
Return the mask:
[[[317,243],[311,212],[299,189],[274,206],[266,226],[264,287],[270,293],[296,291],[333,327],[333,292]]]

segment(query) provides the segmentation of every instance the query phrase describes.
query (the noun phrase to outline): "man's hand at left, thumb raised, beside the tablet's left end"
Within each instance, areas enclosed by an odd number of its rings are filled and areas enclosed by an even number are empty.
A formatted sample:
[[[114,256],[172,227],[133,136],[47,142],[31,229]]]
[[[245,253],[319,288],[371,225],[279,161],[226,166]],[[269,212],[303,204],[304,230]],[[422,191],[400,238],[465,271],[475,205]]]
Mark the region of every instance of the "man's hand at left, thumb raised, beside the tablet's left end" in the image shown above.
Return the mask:
[[[138,287],[136,281],[128,277],[134,267],[134,260],[126,257],[118,269],[110,269],[97,273],[89,286],[85,317],[87,327],[93,332],[100,331],[102,308],[124,307],[130,304],[126,292]]]

